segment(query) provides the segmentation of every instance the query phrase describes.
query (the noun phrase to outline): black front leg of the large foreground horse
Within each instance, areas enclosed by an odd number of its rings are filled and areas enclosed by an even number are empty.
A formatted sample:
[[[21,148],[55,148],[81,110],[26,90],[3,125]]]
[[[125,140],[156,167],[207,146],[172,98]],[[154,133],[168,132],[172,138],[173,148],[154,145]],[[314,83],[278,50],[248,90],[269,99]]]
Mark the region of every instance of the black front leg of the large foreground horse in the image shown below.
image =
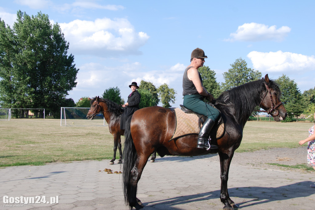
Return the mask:
[[[234,210],[234,208],[238,208],[238,206],[231,200],[228,190],[227,190],[227,180],[229,178],[229,169],[231,160],[234,152],[229,153],[221,153],[220,156],[220,164],[221,164],[221,194],[220,199],[224,204],[223,209],[226,210]]]

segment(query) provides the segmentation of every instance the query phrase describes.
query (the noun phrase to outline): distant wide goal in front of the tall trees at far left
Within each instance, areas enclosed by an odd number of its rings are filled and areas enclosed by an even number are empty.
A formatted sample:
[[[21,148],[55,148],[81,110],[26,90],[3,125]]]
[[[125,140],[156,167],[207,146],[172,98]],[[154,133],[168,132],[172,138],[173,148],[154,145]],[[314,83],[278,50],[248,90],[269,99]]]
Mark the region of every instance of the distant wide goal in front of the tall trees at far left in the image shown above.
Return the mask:
[[[10,108],[10,119],[42,118],[45,119],[45,109]]]

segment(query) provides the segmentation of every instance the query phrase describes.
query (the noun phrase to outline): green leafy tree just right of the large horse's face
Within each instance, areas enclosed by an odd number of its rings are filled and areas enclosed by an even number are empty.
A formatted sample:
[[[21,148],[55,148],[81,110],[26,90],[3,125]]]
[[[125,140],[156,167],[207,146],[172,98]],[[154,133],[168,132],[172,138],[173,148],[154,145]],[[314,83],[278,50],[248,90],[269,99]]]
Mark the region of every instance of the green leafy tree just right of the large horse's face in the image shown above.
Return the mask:
[[[284,108],[288,112],[289,118],[293,116],[300,116],[305,110],[305,103],[302,100],[302,94],[294,82],[294,79],[290,79],[286,75],[282,74],[281,77],[275,80],[278,83],[281,90],[281,101],[284,104]],[[297,120],[297,119],[296,119]]]

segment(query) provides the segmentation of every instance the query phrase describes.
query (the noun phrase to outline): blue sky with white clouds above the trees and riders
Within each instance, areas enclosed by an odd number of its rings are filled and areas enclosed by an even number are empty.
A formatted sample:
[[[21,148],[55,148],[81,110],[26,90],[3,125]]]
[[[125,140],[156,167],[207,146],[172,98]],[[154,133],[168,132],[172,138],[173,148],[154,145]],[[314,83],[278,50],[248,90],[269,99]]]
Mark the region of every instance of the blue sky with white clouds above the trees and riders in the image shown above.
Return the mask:
[[[16,12],[39,11],[58,23],[75,57],[77,87],[67,98],[102,95],[129,84],[167,83],[182,104],[182,74],[199,47],[205,65],[224,82],[236,59],[263,76],[282,74],[303,93],[315,87],[315,1],[1,1],[0,17],[12,28]]]

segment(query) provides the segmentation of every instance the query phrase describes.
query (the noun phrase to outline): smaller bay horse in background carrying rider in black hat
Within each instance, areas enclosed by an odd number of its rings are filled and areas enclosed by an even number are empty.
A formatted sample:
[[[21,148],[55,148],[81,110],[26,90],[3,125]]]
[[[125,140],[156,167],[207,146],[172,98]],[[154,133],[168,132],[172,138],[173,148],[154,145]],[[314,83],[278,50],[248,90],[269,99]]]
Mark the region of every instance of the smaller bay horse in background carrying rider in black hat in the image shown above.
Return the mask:
[[[109,99],[100,99],[99,96],[95,96],[94,99],[90,101],[91,107],[87,114],[87,118],[92,120],[95,115],[102,113],[109,128],[109,132],[114,137],[114,156],[109,164],[114,164],[116,160],[116,151],[119,150],[119,160],[118,164],[122,163],[123,152],[121,149],[121,136],[124,135],[125,130],[120,129],[120,116],[123,112],[123,109],[116,104],[115,102]],[[156,152],[152,154],[151,162],[154,162],[156,158]]]

